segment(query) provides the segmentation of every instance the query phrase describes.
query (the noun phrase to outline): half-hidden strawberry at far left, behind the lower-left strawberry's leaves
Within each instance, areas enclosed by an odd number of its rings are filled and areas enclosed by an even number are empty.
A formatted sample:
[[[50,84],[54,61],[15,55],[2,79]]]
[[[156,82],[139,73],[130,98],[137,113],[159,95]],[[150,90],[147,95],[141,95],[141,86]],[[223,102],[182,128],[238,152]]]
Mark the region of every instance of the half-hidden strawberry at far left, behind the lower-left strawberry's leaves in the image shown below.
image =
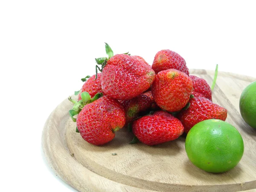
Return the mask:
[[[80,92],[88,92],[90,94],[91,97],[94,97],[96,95],[96,93],[102,93],[102,88],[101,88],[101,81],[100,81],[100,77],[101,77],[101,73],[98,73],[98,78],[95,80],[95,76],[93,75],[91,76],[89,79],[87,79],[87,81],[85,81],[85,83],[83,84]],[[79,93],[78,95],[78,101],[81,100],[81,93]]]

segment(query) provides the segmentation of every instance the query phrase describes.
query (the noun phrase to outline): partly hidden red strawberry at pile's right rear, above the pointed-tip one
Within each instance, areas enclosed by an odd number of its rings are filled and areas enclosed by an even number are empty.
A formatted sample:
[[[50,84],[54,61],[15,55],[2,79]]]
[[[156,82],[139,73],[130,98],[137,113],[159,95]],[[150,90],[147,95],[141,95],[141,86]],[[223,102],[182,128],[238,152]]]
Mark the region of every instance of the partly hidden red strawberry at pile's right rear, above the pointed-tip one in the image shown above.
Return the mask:
[[[189,76],[193,81],[194,96],[204,96],[205,98],[212,101],[212,90],[207,81],[197,76]],[[200,93],[200,94],[198,94]]]

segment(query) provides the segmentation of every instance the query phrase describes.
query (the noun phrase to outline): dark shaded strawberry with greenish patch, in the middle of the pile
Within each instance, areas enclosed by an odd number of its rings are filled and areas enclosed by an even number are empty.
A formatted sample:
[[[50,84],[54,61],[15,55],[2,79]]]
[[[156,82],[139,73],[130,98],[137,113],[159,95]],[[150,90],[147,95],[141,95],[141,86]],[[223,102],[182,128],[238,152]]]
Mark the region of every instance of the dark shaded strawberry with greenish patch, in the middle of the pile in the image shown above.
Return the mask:
[[[142,93],[128,101],[121,101],[121,104],[125,109],[126,122],[130,122],[137,118],[141,111],[146,111],[156,105],[151,91]]]

